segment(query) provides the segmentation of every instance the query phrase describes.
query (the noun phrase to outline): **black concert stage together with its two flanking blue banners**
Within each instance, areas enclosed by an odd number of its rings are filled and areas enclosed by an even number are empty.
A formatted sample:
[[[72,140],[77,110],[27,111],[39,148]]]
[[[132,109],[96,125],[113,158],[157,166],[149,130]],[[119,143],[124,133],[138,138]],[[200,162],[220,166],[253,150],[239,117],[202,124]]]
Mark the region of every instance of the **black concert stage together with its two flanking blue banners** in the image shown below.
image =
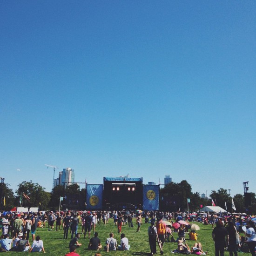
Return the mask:
[[[86,186],[87,209],[158,210],[159,185],[143,185],[143,178],[103,177],[102,185]]]

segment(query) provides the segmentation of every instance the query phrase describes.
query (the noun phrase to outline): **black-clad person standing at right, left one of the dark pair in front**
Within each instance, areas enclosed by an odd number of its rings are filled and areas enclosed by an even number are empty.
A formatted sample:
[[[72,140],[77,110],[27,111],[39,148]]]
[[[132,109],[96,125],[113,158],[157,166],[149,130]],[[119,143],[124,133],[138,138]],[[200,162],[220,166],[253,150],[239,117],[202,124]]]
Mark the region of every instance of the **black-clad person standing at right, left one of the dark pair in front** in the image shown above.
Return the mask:
[[[212,238],[215,243],[215,256],[224,256],[224,248],[229,244],[229,233],[225,229],[222,221],[216,222],[216,227],[212,230]]]

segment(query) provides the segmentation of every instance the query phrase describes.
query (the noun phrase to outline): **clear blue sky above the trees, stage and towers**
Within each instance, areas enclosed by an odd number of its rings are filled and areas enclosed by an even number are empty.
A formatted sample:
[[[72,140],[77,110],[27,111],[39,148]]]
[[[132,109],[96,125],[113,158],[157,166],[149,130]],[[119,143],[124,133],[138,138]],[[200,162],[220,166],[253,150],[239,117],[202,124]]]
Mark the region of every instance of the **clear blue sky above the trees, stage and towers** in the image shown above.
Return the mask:
[[[252,0],[2,0],[0,176],[50,191],[49,164],[76,182],[256,193],[255,13]]]

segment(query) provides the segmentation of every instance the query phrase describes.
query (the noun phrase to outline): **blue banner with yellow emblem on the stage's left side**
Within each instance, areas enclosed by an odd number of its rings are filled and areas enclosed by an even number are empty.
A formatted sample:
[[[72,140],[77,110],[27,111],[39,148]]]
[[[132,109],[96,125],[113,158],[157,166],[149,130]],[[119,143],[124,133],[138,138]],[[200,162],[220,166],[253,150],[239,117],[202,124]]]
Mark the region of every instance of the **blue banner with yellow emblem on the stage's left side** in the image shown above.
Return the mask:
[[[87,184],[86,189],[87,189],[87,194],[86,194],[87,209],[101,210],[103,185]]]

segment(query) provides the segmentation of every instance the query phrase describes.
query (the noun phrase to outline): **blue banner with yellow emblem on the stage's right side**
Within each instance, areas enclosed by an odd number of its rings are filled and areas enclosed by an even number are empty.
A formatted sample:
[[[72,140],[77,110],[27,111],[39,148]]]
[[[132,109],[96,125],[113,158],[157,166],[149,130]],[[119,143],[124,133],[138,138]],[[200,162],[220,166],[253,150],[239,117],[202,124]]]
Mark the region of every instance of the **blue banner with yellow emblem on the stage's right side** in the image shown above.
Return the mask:
[[[159,185],[143,185],[143,210],[159,210]]]

